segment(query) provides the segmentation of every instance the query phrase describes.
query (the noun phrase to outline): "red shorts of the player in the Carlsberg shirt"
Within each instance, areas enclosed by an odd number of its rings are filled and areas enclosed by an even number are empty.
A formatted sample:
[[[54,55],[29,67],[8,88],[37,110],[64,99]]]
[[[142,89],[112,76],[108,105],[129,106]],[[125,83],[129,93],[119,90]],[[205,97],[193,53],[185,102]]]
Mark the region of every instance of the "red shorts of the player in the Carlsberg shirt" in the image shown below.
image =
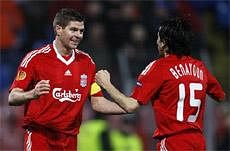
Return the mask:
[[[27,129],[24,135],[24,151],[76,151],[77,136],[41,129]]]

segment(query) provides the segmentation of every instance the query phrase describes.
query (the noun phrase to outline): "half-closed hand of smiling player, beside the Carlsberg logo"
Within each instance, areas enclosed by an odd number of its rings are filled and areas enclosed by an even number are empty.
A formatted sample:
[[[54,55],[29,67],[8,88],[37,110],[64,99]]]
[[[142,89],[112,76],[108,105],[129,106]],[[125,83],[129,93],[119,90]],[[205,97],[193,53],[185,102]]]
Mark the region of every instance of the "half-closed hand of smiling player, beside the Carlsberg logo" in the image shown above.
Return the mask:
[[[33,89],[34,98],[39,98],[41,95],[49,93],[50,91],[49,81],[50,80],[41,80],[35,85],[35,88]]]

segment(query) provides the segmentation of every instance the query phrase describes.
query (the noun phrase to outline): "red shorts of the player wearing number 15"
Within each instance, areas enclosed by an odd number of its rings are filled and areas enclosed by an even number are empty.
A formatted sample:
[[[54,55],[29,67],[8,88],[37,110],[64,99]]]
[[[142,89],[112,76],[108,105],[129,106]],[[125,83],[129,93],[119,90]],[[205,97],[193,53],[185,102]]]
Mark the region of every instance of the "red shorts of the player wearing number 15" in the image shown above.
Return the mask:
[[[204,151],[205,138],[199,131],[185,131],[157,142],[157,151]]]

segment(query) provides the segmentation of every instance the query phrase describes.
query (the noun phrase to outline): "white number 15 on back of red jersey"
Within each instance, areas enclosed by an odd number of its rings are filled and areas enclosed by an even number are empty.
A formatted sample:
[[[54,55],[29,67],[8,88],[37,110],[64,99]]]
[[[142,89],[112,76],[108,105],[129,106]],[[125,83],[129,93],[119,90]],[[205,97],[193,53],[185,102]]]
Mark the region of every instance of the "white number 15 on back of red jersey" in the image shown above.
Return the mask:
[[[190,83],[189,84],[189,91],[190,91],[190,97],[189,97],[189,105],[191,107],[197,107],[197,112],[195,115],[189,115],[188,119],[186,119],[188,122],[195,122],[200,111],[200,105],[201,100],[195,98],[195,91],[196,90],[202,90],[202,84],[200,83]],[[177,102],[177,114],[176,118],[178,121],[184,121],[184,100],[185,100],[185,85],[183,83],[179,84],[179,100]]]

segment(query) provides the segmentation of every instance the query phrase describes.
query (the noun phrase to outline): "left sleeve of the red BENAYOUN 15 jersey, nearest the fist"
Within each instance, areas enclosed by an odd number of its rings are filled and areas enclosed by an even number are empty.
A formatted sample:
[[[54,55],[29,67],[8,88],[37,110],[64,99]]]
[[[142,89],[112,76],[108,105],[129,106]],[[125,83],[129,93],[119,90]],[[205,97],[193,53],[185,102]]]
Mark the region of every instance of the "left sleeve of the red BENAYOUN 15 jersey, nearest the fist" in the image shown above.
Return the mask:
[[[156,96],[163,83],[162,70],[158,63],[150,63],[139,75],[131,97],[140,104],[147,104]]]

